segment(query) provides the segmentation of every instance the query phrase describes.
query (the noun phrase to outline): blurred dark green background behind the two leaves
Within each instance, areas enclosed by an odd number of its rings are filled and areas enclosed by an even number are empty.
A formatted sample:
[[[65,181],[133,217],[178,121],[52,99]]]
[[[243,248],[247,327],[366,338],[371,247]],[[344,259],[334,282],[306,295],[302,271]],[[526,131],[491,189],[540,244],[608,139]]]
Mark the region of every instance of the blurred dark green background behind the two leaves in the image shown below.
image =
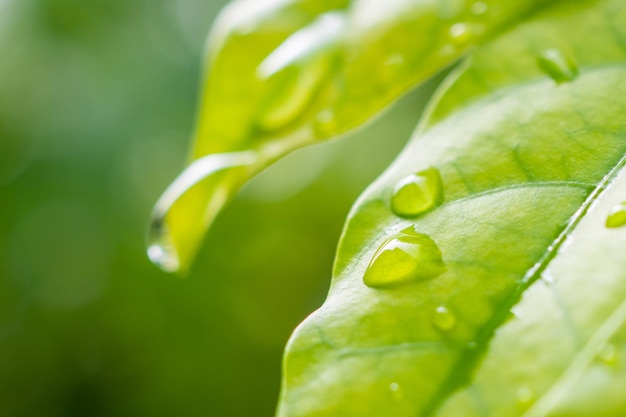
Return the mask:
[[[223,0],[0,0],[0,416],[271,416],[345,216],[425,92],[299,151],[219,216],[187,279],[152,266]]]

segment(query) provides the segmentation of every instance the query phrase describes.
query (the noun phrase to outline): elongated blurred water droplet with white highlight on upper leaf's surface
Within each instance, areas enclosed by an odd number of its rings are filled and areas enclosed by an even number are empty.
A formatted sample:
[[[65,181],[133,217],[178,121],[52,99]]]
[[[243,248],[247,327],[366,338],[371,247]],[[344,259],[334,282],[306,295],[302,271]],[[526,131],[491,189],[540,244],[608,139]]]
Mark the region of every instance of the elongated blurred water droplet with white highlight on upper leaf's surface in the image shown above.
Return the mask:
[[[258,67],[265,81],[258,124],[276,130],[297,118],[332,67],[343,36],[345,16],[326,13],[285,40]]]

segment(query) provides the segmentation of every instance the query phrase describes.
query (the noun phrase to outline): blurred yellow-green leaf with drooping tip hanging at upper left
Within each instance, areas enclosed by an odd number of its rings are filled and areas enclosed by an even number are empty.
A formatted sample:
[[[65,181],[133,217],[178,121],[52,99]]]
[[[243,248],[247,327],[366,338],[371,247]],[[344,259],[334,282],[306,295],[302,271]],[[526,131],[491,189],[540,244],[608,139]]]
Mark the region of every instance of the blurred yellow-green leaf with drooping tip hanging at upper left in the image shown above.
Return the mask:
[[[548,0],[239,0],[210,36],[188,166],[149,255],[185,270],[221,207],[288,152],[370,120]]]

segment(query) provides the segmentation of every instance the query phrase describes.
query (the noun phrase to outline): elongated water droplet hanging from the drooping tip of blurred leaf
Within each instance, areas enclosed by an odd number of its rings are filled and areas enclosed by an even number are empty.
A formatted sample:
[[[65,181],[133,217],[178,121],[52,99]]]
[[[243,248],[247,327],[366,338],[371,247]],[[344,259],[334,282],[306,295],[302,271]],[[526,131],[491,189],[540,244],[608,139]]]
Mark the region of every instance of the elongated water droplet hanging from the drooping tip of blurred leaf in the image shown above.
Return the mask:
[[[212,154],[191,163],[157,201],[148,234],[148,257],[167,272],[185,270],[207,228],[250,175],[255,152]]]

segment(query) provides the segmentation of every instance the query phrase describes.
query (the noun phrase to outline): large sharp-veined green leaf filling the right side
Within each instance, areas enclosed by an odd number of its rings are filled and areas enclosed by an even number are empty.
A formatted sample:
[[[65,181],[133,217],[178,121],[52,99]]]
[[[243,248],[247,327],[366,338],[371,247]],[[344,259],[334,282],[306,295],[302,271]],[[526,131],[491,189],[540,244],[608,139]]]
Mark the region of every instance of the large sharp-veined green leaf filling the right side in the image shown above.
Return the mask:
[[[278,416],[626,415],[625,95],[623,0],[473,51],[353,208]],[[439,200],[395,214],[435,171]]]

